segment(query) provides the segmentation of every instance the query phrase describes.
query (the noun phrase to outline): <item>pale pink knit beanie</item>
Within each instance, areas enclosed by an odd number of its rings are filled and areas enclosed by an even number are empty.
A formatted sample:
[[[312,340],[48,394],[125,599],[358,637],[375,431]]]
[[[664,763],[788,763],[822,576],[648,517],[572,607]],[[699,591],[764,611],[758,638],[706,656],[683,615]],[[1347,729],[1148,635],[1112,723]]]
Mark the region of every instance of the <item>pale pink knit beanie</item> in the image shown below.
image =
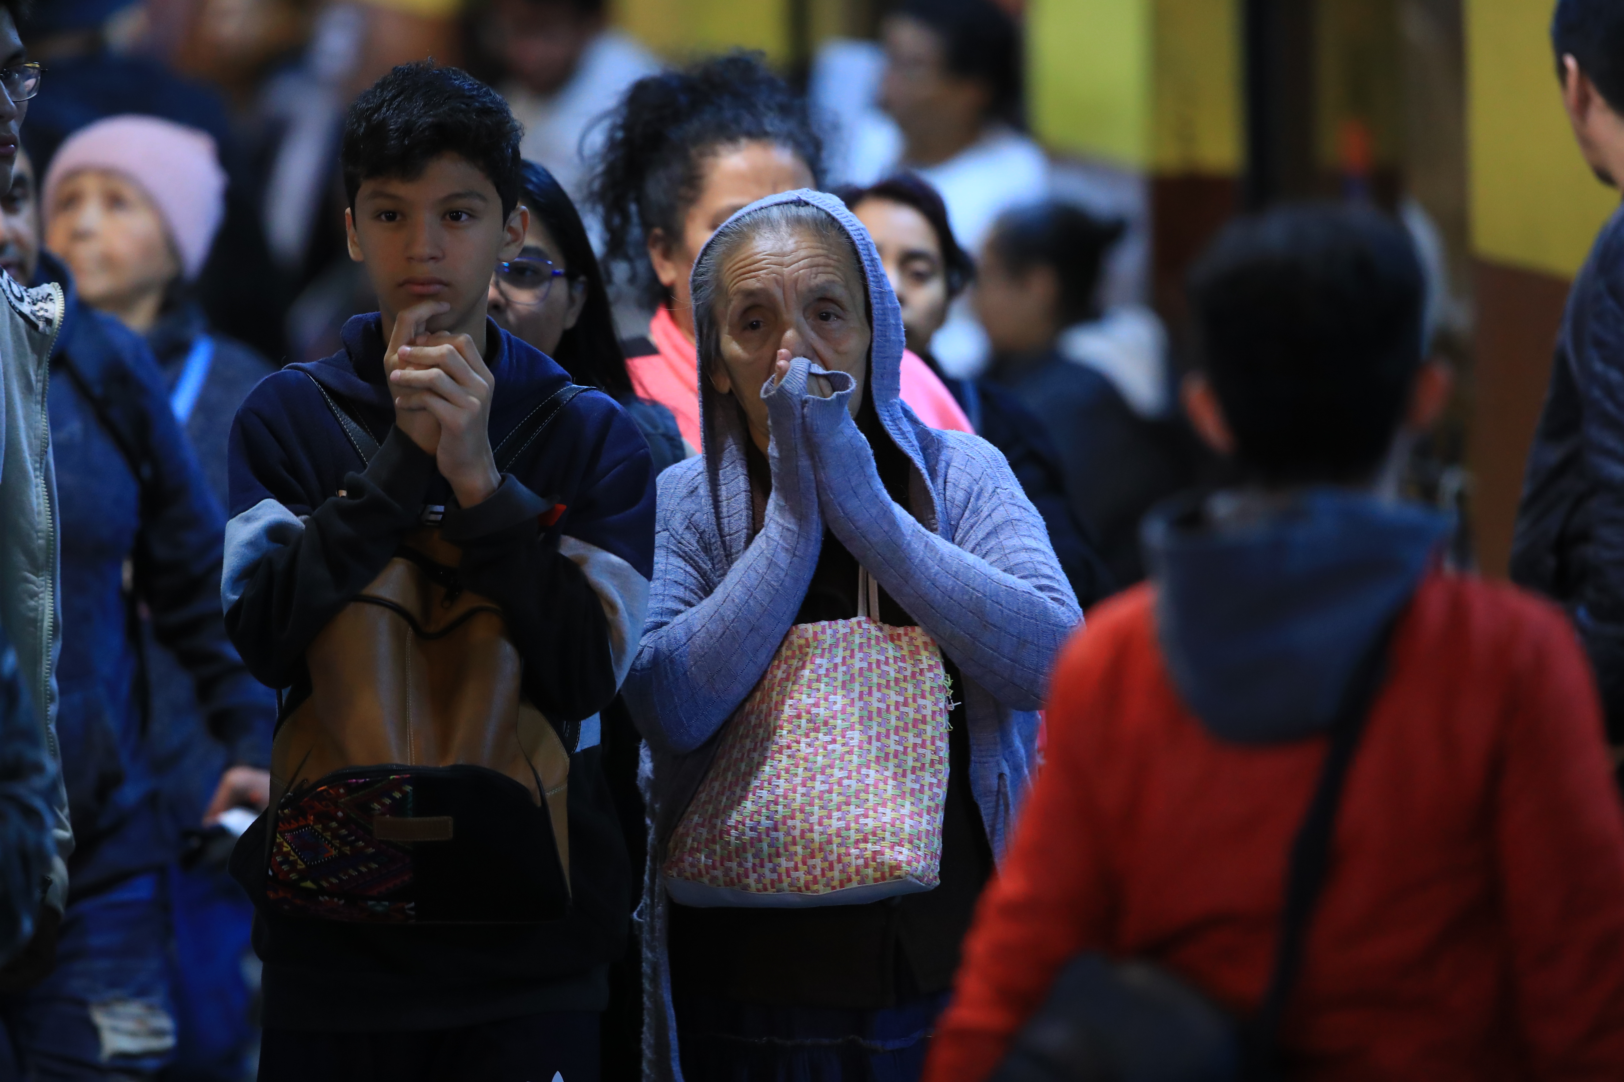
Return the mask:
[[[123,174],[141,185],[169,225],[187,281],[198,276],[226,214],[226,172],[208,133],[135,114],[80,128],[45,172],[47,217],[62,182],[84,169]]]

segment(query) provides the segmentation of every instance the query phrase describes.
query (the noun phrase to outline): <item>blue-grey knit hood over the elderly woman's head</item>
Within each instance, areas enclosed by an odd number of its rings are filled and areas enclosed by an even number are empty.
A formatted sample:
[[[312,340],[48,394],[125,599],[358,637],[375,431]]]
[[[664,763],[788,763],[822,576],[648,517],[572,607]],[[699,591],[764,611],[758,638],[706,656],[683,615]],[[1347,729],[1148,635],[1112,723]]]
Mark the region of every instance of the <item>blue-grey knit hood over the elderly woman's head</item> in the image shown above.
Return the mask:
[[[892,282],[885,276],[885,264],[880,263],[880,253],[874,247],[874,238],[869,237],[869,230],[864,229],[862,222],[846,209],[836,196],[827,195],[823,191],[812,191],[810,188],[799,188],[796,191],[780,191],[778,195],[770,195],[765,200],[757,200],[750,206],[737,211],[732,217],[723,222],[721,229],[711,235],[711,238],[700,250],[700,258],[693,261],[695,273],[698,266],[705,261],[705,253],[710,250],[716,238],[721,237],[728,227],[737,222],[741,217],[755,214],[757,211],[767,209],[770,206],[780,204],[802,204],[814,206],[833,217],[840,227],[851,238],[853,247],[857,253],[857,268],[862,273],[864,286],[869,294],[869,321],[872,337],[869,342],[869,380],[864,388],[864,394],[874,401],[874,410],[880,419],[885,432],[892,436],[903,454],[914,464],[914,469],[921,475],[926,474],[924,454],[919,449],[919,440],[914,435],[914,427],[921,425],[918,415],[901,401],[901,365],[903,365],[903,347],[906,344],[906,336],[903,334],[903,310],[896,303],[896,294],[892,292]],[[690,279],[690,287],[698,286],[698,277],[695,274]],[[698,391],[700,391],[700,425],[703,438],[703,454],[705,467],[711,479],[711,492],[719,492],[726,487],[726,480],[732,479],[732,483],[749,483],[749,474],[745,467],[745,444],[750,440],[749,432],[745,432],[744,420],[739,409],[732,402],[732,394],[723,394],[715,386],[711,386],[706,371],[715,362],[715,346],[710,342],[698,342]],[[822,371],[822,370],[818,370]],[[844,381],[846,376],[835,373],[836,381]],[[770,380],[762,393],[767,394],[773,388]],[[932,503],[935,503],[935,493],[932,493]],[[940,508],[934,508],[939,513]]]

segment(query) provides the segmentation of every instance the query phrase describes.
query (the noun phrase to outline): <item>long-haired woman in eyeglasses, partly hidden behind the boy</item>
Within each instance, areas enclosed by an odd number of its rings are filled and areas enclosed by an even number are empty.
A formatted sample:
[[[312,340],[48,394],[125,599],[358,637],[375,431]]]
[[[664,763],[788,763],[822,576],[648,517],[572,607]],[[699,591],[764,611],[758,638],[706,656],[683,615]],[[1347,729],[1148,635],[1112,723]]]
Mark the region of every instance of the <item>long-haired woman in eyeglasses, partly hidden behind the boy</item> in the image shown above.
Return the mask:
[[[523,162],[521,183],[529,232],[518,258],[490,276],[490,318],[559,362],[575,383],[619,402],[648,440],[656,474],[680,462],[689,449],[677,419],[632,388],[609,290],[580,211],[564,185],[536,162]]]

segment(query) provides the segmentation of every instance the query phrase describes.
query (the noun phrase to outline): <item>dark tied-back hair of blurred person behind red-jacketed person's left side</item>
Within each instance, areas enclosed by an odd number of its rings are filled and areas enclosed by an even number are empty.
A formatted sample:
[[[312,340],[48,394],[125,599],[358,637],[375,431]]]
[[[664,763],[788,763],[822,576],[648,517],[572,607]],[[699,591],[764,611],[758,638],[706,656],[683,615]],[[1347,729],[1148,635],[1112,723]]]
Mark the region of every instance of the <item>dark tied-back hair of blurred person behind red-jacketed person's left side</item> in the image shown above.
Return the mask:
[[[1099,316],[1101,268],[1125,229],[1069,203],[1036,203],[1005,211],[987,235],[987,248],[1017,276],[1052,268],[1060,282],[1056,316],[1070,326]]]

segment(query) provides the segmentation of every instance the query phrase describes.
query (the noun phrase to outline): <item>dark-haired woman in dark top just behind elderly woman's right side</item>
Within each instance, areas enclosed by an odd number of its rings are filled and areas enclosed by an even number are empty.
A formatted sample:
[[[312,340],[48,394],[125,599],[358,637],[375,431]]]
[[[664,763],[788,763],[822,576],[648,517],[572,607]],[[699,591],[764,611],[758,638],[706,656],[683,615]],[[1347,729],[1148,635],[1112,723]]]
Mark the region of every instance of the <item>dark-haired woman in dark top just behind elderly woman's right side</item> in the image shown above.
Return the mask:
[[[874,238],[903,310],[908,349],[942,376],[976,435],[1009,459],[1021,490],[1049,527],[1049,543],[1077,602],[1088,608],[1111,592],[1111,576],[1095,552],[1088,529],[1072,511],[1060,456],[1043,422],[1007,388],[987,380],[945,376],[931,357],[931,336],[976,273],[970,253],[953,237],[942,196],[909,174],[867,188],[841,188],[840,196]]]

